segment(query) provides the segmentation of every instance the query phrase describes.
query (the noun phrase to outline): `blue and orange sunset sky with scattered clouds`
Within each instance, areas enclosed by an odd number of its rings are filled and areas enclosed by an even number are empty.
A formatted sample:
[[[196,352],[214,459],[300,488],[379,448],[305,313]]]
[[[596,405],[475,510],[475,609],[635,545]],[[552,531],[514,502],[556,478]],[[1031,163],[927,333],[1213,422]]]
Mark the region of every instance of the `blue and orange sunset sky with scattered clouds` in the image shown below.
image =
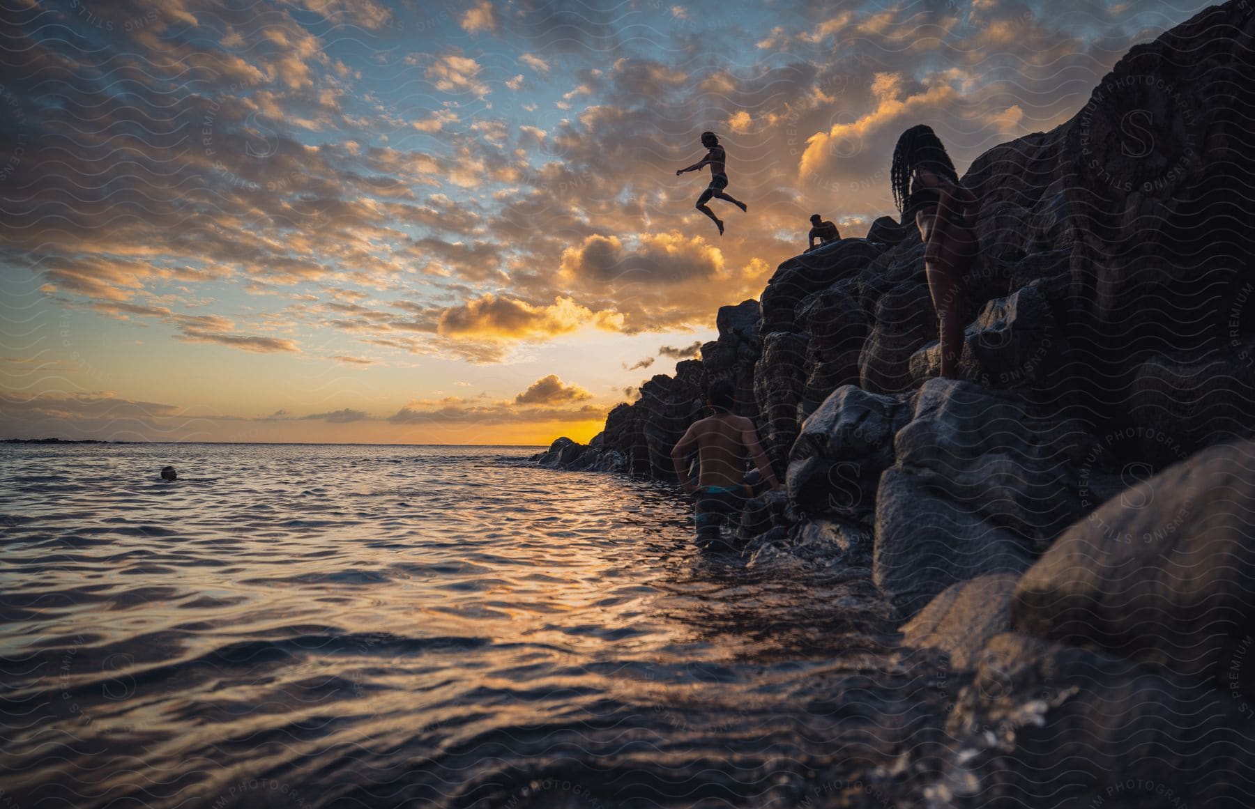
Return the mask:
[[[1201,8],[6,0],[0,438],[587,440],[902,129],[963,172]]]

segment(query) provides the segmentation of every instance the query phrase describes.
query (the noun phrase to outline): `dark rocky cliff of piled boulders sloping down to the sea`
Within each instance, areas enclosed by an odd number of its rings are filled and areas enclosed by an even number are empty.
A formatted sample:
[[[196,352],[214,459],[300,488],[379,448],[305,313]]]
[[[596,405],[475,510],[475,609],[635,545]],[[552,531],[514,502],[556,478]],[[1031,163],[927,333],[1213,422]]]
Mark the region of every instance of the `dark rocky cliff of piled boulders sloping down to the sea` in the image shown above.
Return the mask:
[[[1255,803],[1252,36],[1249,0],[1207,9],[973,162],[961,380],[936,379],[917,233],[882,217],[541,459],[671,479],[734,379],[787,480],[750,563],[866,567],[963,672],[919,805]]]

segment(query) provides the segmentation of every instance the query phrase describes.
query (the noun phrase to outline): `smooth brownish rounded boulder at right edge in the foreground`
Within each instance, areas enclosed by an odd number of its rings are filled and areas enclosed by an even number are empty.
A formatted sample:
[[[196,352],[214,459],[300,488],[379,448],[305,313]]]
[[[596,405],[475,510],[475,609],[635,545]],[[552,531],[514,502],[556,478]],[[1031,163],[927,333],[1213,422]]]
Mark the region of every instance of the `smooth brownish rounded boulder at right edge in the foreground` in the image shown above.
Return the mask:
[[[1255,443],[1220,445],[1069,528],[1015,591],[1022,631],[1255,697]]]

